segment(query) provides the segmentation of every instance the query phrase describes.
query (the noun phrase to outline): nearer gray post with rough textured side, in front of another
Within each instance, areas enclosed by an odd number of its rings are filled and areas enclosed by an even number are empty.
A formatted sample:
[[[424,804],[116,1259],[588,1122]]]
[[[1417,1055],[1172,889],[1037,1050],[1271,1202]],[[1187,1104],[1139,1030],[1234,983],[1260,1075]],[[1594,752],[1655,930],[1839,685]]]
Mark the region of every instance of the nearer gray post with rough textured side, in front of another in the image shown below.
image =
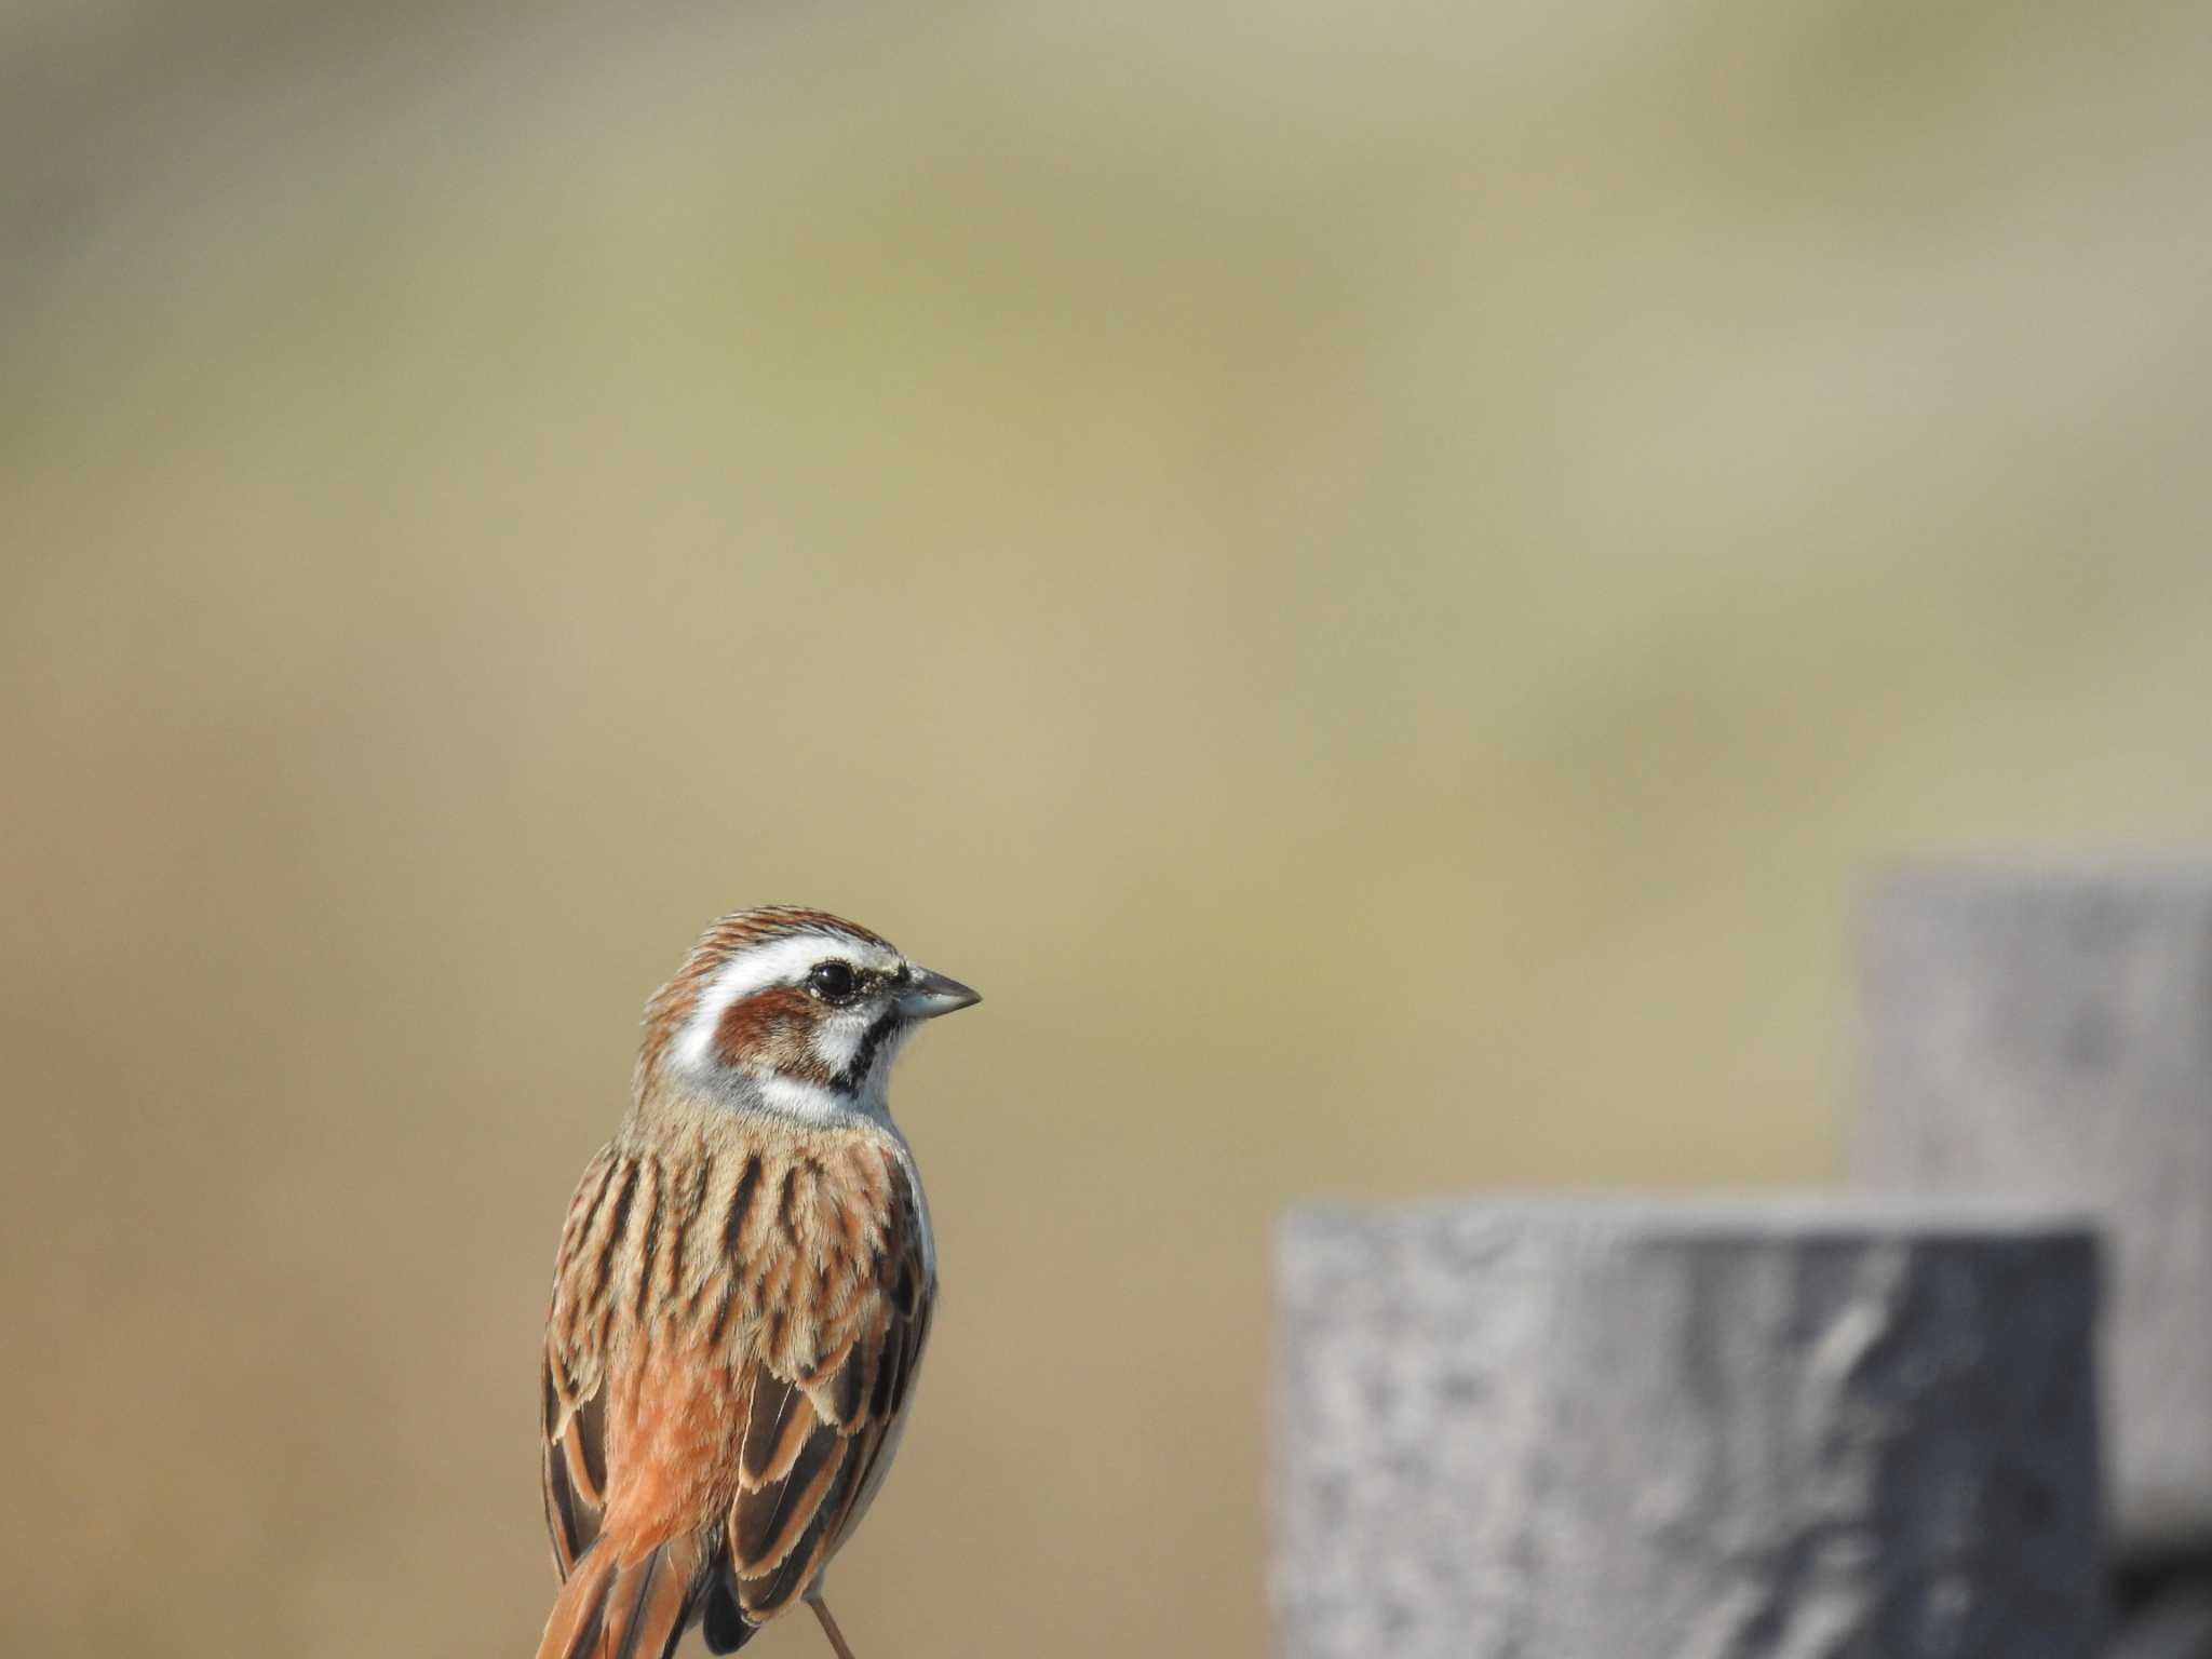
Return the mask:
[[[1283,1659],[2090,1659],[2095,1241],[1469,1201],[1276,1239]]]

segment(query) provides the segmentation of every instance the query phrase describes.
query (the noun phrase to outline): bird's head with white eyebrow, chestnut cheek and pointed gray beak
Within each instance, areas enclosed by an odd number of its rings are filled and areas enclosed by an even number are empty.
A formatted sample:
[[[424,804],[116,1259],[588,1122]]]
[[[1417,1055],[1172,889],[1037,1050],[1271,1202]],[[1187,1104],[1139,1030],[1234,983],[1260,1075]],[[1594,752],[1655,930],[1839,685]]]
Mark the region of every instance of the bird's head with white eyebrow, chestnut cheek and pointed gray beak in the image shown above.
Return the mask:
[[[639,1095],[686,1088],[803,1121],[880,1115],[898,1046],[980,998],[818,909],[732,911],[646,1004]]]

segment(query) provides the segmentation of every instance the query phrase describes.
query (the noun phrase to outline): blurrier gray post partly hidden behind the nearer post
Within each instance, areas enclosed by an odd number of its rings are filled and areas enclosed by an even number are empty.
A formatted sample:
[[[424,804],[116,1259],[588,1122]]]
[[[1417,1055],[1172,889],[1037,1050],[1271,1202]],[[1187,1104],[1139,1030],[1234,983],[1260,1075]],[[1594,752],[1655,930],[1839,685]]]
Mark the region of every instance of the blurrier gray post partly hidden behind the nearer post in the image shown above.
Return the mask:
[[[2117,1544],[2212,1540],[2212,867],[1882,878],[1854,1168],[2095,1208]]]

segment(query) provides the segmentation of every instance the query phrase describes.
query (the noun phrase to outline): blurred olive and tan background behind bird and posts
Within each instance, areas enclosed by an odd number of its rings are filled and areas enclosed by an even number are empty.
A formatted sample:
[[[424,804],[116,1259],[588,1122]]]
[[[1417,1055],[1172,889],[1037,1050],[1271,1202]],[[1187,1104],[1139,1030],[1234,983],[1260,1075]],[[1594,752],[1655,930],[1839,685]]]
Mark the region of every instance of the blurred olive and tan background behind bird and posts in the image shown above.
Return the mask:
[[[9,4],[0,1646],[529,1655],[568,1188],[799,900],[987,993],[845,1628],[1259,1652],[1285,1199],[1823,1181],[1869,863],[2212,832],[2208,84],[2143,0]]]

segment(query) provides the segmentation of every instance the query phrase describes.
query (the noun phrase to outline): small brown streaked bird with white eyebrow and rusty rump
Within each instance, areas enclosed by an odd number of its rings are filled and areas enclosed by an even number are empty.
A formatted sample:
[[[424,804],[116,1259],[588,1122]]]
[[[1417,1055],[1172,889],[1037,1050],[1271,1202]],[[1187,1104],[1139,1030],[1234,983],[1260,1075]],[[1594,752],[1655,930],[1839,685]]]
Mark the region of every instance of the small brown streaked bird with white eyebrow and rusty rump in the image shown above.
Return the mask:
[[[538,1659],[717,1655],[805,1601],[898,1451],[936,1305],[887,1082],[982,998],[821,909],[714,920],[646,1002],[630,1106],[575,1188],[546,1314],[562,1586]]]

